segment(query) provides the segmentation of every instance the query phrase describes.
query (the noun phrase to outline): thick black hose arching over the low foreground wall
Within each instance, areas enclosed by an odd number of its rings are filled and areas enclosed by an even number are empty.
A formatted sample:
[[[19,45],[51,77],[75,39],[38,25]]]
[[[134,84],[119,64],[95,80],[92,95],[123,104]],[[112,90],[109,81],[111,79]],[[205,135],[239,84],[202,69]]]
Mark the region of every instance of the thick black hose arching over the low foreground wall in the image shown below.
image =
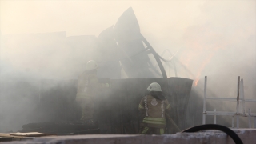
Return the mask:
[[[230,130],[230,128],[222,125],[206,124],[206,125],[194,126],[194,127],[190,127],[189,129],[183,130],[182,133],[193,133],[201,130],[221,130],[227,135],[229,135],[236,144],[242,144],[242,140],[238,137],[238,134],[235,134],[233,130]]]

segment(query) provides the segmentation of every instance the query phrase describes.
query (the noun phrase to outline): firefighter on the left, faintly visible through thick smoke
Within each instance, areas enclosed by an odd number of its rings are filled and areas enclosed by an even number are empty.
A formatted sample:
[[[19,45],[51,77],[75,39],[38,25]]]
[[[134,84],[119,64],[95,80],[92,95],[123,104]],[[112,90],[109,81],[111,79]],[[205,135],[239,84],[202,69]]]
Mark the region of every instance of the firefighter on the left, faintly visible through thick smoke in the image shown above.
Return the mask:
[[[93,98],[97,95],[99,88],[97,78],[98,64],[94,60],[90,60],[86,64],[86,71],[80,75],[77,84],[76,102],[82,109],[80,120],[86,123],[93,122],[94,116],[94,101]]]

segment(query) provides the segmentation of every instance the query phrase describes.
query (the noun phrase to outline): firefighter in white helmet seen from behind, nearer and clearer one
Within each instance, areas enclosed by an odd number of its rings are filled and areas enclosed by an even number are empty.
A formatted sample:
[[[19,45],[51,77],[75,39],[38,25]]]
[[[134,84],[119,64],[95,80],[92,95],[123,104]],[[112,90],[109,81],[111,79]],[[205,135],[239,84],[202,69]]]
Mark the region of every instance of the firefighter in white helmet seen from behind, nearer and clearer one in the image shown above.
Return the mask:
[[[147,90],[149,94],[138,105],[138,110],[144,115],[140,134],[164,134],[170,104],[157,82],[151,83]]]

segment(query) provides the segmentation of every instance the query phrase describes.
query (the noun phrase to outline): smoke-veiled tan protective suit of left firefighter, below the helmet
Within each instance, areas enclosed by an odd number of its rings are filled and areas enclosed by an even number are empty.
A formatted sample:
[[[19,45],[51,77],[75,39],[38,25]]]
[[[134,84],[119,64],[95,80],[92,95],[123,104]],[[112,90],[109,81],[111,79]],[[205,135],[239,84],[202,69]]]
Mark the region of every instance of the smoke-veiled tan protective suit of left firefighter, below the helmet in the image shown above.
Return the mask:
[[[81,120],[93,118],[94,101],[93,98],[98,90],[98,78],[96,74],[82,74],[78,78],[78,91],[76,102],[82,107]]]

